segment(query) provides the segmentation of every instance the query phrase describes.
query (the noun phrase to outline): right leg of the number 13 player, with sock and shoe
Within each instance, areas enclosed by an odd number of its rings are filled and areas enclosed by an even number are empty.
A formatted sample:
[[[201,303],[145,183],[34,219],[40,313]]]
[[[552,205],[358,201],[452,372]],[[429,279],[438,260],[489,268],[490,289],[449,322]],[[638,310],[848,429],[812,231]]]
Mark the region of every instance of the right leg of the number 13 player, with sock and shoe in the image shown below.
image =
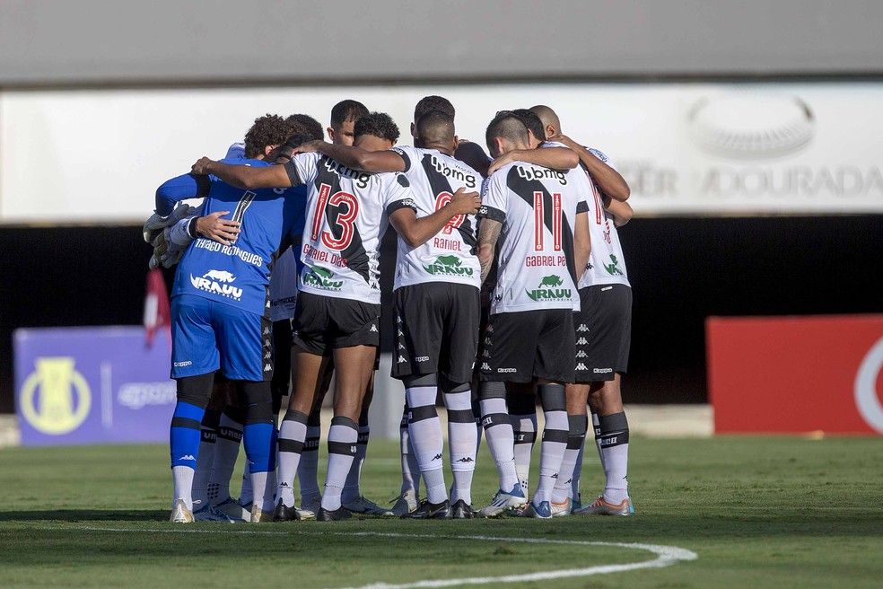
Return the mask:
[[[355,457],[359,438],[358,418],[376,353],[376,346],[364,345],[337,347],[334,350],[334,364],[337,367],[334,418],[328,430],[328,472],[322,506],[317,515],[320,521],[349,517],[350,512],[341,505],[340,496]]]

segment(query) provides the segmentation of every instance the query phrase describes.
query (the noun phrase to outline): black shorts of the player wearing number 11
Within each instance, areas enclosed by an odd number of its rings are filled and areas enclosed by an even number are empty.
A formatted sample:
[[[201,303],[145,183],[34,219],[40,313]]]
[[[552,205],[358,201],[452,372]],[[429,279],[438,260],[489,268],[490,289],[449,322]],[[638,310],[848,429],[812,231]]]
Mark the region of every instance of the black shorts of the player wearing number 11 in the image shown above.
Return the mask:
[[[528,382],[534,377],[573,382],[573,311],[542,309],[492,314],[487,322],[478,377]]]

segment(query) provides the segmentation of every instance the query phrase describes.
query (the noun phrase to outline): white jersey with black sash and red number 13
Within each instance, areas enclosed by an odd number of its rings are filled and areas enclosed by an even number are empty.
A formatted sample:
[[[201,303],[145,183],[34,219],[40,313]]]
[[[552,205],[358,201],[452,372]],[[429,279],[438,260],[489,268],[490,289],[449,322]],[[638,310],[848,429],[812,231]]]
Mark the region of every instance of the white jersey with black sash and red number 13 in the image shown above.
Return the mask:
[[[301,290],[380,304],[380,236],[389,213],[415,210],[405,174],[350,170],[323,154],[295,155],[285,170],[307,185]]]

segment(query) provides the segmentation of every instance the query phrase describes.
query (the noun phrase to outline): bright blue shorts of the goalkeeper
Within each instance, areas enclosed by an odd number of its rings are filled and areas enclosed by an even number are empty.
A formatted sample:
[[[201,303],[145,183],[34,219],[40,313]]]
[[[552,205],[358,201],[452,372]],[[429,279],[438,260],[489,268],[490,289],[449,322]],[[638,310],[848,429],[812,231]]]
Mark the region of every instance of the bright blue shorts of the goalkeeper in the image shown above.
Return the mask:
[[[234,381],[273,376],[270,320],[196,295],[171,300],[171,378],[213,373]]]

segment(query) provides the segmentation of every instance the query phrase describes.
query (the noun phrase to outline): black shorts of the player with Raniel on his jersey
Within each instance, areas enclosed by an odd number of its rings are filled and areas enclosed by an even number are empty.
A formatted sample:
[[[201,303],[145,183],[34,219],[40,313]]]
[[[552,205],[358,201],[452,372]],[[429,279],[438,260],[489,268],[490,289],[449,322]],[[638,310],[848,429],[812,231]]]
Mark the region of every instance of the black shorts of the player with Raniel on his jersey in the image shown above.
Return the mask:
[[[481,314],[478,289],[428,282],[402,286],[394,296],[393,378],[438,373],[456,384],[470,382]]]

